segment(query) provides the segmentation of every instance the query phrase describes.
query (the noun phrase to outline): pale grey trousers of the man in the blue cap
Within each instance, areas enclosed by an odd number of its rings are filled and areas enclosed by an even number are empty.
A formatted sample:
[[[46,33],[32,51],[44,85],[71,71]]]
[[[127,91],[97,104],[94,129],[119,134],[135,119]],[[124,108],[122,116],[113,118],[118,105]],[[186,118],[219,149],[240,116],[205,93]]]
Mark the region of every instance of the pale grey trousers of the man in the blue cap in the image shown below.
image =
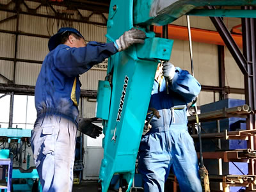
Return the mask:
[[[72,191],[76,125],[59,116],[46,116],[31,136],[34,159],[43,191]]]

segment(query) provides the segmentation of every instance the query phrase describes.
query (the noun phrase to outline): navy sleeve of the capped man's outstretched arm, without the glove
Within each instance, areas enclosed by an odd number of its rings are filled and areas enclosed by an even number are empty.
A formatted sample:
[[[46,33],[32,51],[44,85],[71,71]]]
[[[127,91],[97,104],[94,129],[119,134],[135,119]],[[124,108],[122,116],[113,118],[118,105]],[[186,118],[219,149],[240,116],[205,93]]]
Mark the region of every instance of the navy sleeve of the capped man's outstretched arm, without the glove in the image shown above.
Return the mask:
[[[89,42],[86,47],[63,46],[56,52],[54,61],[56,68],[69,77],[83,74],[87,70],[101,63],[112,54],[118,52],[114,43],[101,44]]]

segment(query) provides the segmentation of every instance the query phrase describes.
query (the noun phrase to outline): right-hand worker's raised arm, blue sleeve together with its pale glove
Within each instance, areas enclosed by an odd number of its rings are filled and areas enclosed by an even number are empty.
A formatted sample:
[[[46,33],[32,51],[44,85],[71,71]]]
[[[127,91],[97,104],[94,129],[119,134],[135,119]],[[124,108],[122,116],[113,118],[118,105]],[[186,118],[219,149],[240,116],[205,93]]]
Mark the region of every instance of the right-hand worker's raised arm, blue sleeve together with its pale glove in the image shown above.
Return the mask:
[[[163,76],[168,81],[168,88],[179,93],[189,103],[200,93],[201,85],[188,71],[174,67],[170,62],[163,64]]]

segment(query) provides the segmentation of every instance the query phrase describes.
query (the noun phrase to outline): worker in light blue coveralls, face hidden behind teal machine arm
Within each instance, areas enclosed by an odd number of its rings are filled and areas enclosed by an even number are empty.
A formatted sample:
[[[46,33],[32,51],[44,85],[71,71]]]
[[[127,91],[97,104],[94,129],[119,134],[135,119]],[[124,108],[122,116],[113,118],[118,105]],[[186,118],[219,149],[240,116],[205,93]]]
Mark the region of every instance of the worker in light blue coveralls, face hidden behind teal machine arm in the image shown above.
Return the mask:
[[[154,116],[150,124],[145,124],[147,127],[138,153],[138,170],[143,175],[144,191],[164,192],[170,169],[177,177],[181,191],[202,191],[198,159],[187,129],[186,115],[187,104],[200,90],[200,84],[188,71],[175,68],[170,62],[157,68],[149,108],[157,109],[161,117]],[[151,115],[147,115],[146,120]]]

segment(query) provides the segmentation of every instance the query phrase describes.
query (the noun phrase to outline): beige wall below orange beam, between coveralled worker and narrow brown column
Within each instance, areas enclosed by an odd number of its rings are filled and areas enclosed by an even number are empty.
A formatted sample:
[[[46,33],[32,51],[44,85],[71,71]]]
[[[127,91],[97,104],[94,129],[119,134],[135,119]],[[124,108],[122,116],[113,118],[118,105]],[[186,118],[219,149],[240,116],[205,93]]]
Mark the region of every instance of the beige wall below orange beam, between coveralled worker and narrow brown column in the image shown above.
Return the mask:
[[[191,72],[188,41],[174,40],[171,56],[173,65]],[[193,42],[194,75],[200,84],[218,86],[218,49],[216,45]],[[216,95],[216,99],[219,96]],[[201,92],[198,106],[214,101],[214,93]]]

